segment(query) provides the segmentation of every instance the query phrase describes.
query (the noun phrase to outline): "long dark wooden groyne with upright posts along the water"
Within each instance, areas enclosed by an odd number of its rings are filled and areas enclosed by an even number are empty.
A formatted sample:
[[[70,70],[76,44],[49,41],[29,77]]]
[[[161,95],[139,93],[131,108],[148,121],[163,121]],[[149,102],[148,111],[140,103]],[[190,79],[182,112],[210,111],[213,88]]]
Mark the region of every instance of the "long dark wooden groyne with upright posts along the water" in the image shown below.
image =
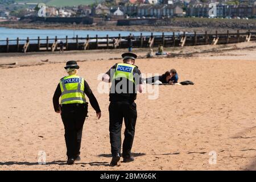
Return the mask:
[[[121,36],[120,34],[116,37],[96,37],[91,38],[89,35],[82,38],[76,36],[75,38],[57,38],[53,39],[40,38],[38,39],[15,39],[0,40],[0,53],[3,52],[43,52],[43,51],[59,51],[60,42],[63,42],[64,51],[73,50],[89,50],[89,49],[115,49],[115,48],[128,48],[126,40],[127,36]],[[239,30],[237,32],[227,31],[225,34],[179,34],[176,35],[174,32],[171,34],[154,35],[151,33],[149,36],[133,37],[133,48],[146,48],[146,47],[158,47],[162,44],[164,47],[183,47],[183,46],[199,46],[208,44],[230,44],[256,41],[256,32],[243,32]]]

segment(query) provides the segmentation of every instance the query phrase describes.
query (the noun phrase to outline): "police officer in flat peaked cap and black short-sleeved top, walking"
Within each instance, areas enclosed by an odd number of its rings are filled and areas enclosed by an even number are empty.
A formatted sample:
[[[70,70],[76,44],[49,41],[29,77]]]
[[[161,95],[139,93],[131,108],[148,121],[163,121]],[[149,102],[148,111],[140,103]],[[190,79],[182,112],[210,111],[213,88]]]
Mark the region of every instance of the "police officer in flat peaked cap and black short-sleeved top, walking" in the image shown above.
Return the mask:
[[[102,81],[112,82],[110,88],[109,132],[112,152],[110,166],[117,166],[121,157],[121,129],[125,120],[125,139],[123,140],[123,162],[133,162],[135,124],[137,119],[137,91],[142,92],[141,71],[134,65],[137,55],[123,53],[123,63],[117,63],[102,77]]]

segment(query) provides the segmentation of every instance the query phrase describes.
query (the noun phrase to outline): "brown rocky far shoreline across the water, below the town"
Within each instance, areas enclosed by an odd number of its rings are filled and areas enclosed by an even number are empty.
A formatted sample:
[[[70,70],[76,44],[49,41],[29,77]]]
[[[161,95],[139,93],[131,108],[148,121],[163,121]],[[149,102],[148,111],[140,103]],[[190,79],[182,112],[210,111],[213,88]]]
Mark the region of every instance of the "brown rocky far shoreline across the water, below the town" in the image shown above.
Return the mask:
[[[256,21],[255,21],[256,22]],[[22,22],[0,22],[0,27],[5,28],[17,28],[17,29],[35,29],[35,30],[92,30],[92,31],[147,31],[147,32],[205,32],[209,34],[218,31],[219,33],[225,33],[227,30],[234,30],[234,27],[207,27],[205,25],[196,25],[196,27],[189,26],[176,26],[171,25],[158,25],[158,26],[116,26],[114,23],[101,25],[85,25],[77,24],[74,28],[73,24],[63,23],[22,23]],[[256,30],[255,28],[240,28],[235,30],[240,32],[246,32],[248,30]]]

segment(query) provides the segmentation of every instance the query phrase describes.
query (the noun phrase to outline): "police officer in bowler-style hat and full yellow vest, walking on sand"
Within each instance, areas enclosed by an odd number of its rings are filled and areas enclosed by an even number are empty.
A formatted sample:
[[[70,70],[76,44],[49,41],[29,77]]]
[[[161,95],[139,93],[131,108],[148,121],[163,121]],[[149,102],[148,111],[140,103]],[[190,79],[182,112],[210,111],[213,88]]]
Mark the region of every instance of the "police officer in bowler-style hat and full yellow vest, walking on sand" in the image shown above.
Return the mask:
[[[68,76],[60,79],[53,96],[53,106],[56,113],[61,114],[65,128],[65,142],[67,146],[67,164],[71,165],[75,160],[80,160],[80,147],[82,127],[88,114],[88,102],[96,110],[97,118],[101,117],[100,106],[88,83],[84,78],[77,76],[76,61],[68,61],[65,67]],[[60,98],[60,104],[59,104]]]

